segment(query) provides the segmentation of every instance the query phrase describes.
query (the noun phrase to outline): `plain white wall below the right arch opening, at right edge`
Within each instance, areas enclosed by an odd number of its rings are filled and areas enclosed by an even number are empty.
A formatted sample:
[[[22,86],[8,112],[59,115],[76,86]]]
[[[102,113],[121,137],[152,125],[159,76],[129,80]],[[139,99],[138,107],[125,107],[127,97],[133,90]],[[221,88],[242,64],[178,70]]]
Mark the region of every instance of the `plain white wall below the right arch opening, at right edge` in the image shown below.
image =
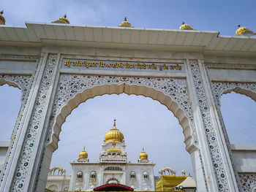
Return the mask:
[[[234,145],[231,151],[238,173],[256,172],[256,145]]]

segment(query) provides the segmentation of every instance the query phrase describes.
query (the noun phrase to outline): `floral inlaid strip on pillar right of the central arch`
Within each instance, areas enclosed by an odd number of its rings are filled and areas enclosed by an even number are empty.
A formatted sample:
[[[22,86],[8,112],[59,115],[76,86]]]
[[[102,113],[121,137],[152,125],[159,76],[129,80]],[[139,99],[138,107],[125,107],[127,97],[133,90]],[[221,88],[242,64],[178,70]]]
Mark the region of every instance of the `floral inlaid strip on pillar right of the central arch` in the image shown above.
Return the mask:
[[[214,126],[211,123],[211,115],[206,101],[206,93],[203,88],[202,77],[200,75],[197,61],[190,61],[190,68],[192,71],[193,82],[195,85],[195,92],[197,94],[197,101],[200,107],[200,112],[203,119],[203,126],[205,128],[206,139],[211,153],[211,161],[214,164],[214,172],[217,177],[217,184],[219,191],[229,191],[227,185],[227,176],[222,162],[221,154],[219,153],[219,146],[216,141],[216,133]]]

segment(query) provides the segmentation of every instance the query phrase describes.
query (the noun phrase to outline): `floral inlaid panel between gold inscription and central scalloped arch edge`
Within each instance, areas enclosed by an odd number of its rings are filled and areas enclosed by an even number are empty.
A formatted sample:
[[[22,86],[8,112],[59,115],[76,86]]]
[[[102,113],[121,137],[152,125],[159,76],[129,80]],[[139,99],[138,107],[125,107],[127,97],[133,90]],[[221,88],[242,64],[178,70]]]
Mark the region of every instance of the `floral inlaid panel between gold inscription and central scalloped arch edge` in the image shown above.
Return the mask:
[[[197,134],[195,132],[192,110],[189,104],[189,96],[187,93],[186,80],[174,78],[153,78],[153,77],[114,77],[114,76],[96,76],[96,75],[69,75],[61,74],[59,87],[56,95],[56,101],[53,107],[52,118],[48,131],[47,142],[50,142],[54,118],[59,114],[62,107],[67,104],[77,93],[81,93],[95,85],[103,84],[128,84],[128,85],[144,85],[149,88],[155,88],[170,96],[173,101],[184,110],[189,119],[192,129],[194,143],[197,145]]]

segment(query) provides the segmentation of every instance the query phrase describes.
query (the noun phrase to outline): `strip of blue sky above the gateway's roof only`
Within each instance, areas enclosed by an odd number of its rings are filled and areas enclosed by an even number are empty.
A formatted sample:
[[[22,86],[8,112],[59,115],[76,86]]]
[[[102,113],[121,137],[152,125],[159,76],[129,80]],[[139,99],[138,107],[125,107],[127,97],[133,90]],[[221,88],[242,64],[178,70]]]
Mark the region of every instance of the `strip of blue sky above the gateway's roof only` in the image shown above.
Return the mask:
[[[118,26],[126,16],[136,28],[178,29],[184,21],[197,30],[219,31],[222,36],[234,36],[239,24],[256,31],[255,7],[255,0],[1,0],[0,4],[8,26],[50,23],[64,14],[72,25]]]

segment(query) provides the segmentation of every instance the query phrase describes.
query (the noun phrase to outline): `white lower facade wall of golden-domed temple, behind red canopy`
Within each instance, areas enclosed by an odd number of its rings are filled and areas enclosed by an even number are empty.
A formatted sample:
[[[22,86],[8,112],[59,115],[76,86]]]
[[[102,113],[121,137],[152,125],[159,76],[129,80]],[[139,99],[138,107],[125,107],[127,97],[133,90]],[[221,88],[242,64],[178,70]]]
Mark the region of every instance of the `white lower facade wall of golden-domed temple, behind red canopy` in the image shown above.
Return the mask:
[[[107,166],[119,166],[122,171],[104,171]],[[77,182],[76,174],[78,171],[83,172],[83,182]],[[143,191],[143,187],[147,186],[150,191],[154,191],[154,164],[97,164],[97,163],[72,163],[72,177],[70,179],[69,190],[75,191],[75,186],[81,186],[83,191],[91,187],[90,174],[92,171],[97,172],[94,187],[105,185],[110,177],[115,175],[120,184],[132,186],[129,173],[135,171],[136,180],[134,186],[137,190]],[[148,180],[143,179],[143,172],[148,172]]]

